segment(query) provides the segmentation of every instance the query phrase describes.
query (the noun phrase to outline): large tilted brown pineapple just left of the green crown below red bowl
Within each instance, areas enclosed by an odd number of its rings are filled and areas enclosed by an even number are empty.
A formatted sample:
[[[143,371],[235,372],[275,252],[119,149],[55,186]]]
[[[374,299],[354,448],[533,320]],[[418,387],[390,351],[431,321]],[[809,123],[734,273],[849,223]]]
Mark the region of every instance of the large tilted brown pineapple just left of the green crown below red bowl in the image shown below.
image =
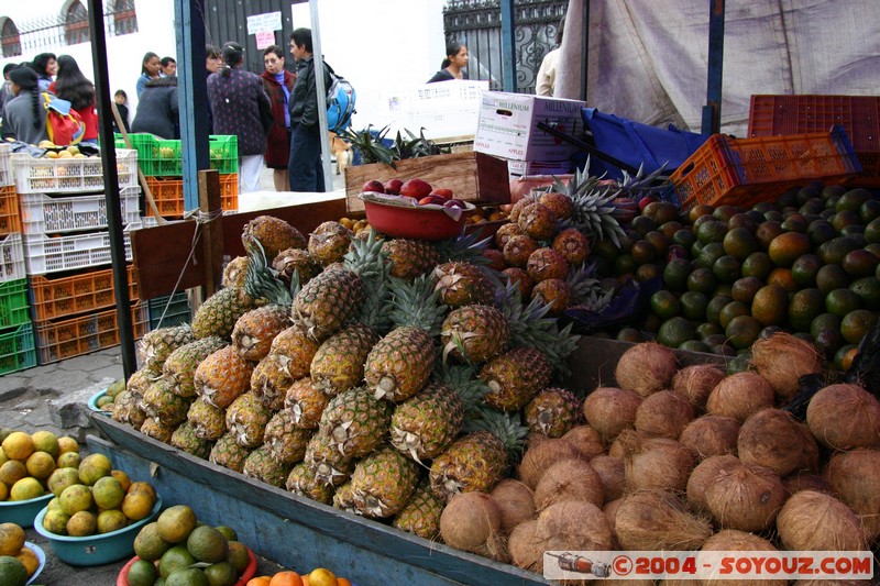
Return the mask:
[[[354,314],[366,292],[360,276],[345,268],[324,270],[308,281],[294,298],[294,322],[323,340]]]

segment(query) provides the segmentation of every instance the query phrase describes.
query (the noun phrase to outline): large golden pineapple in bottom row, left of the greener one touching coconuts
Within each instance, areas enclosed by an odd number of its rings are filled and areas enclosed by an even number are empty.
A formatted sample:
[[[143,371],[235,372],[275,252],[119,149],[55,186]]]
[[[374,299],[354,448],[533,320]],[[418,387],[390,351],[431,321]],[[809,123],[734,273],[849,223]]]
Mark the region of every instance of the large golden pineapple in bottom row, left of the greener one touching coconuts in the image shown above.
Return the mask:
[[[365,517],[392,517],[404,508],[418,482],[418,464],[393,447],[376,450],[351,475],[354,506]]]

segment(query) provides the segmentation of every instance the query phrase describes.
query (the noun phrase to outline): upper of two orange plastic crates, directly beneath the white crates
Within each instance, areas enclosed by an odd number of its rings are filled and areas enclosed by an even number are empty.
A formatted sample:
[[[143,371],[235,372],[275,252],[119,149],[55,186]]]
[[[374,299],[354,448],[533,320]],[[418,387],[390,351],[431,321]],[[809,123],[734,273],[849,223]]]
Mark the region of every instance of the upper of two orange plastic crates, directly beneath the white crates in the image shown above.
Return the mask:
[[[134,281],[134,265],[129,265],[129,298],[140,298]],[[116,306],[113,269],[91,270],[69,277],[47,278],[32,275],[31,307],[34,321],[75,316]]]

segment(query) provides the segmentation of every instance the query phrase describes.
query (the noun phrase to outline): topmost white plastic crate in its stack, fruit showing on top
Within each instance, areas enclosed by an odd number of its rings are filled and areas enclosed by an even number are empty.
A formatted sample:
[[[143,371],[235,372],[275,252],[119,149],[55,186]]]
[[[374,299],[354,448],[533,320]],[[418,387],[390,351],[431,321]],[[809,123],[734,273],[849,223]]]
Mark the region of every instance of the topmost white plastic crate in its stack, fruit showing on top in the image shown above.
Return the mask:
[[[80,194],[103,191],[100,157],[34,158],[13,154],[12,167],[19,194]],[[119,187],[138,187],[138,151],[117,150]]]

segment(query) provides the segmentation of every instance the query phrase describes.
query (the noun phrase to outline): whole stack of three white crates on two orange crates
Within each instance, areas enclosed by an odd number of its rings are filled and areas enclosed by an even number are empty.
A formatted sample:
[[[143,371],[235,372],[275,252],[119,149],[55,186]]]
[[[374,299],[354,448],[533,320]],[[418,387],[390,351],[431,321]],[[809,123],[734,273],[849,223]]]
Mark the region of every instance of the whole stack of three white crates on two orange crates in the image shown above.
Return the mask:
[[[140,228],[138,153],[117,151],[125,257]],[[48,364],[119,344],[103,168],[99,157],[12,156],[36,357]],[[129,268],[134,336],[146,307]]]

